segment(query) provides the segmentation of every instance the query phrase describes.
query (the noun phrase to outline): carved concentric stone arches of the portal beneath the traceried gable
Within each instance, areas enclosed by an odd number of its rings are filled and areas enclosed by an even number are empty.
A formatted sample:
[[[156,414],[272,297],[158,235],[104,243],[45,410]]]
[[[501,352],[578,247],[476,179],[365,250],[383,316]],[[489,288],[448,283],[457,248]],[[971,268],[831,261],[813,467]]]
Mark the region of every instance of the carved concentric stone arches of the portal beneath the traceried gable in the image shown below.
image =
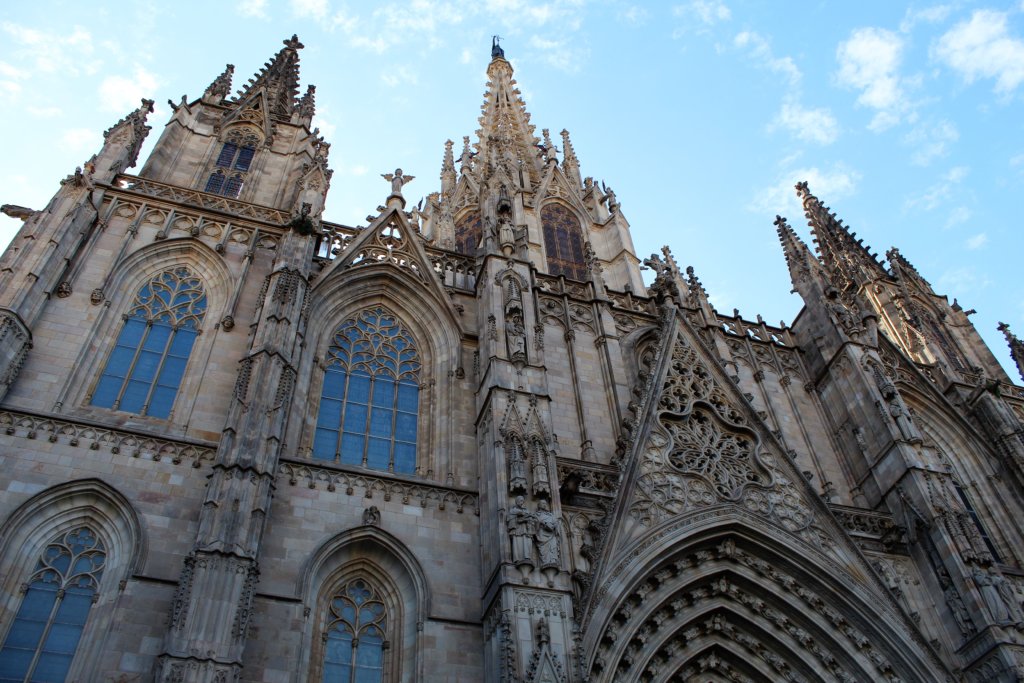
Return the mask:
[[[772,588],[753,591],[752,585]],[[700,670],[709,639],[721,638],[730,650],[742,648],[741,656],[756,659],[756,669],[771,672],[773,680],[826,674],[852,683],[867,680],[857,676],[865,668],[873,670],[870,680],[901,680],[886,654],[831,604],[775,563],[725,539],[662,565],[624,596],[601,635],[591,673],[596,680],[662,680],[687,667]]]

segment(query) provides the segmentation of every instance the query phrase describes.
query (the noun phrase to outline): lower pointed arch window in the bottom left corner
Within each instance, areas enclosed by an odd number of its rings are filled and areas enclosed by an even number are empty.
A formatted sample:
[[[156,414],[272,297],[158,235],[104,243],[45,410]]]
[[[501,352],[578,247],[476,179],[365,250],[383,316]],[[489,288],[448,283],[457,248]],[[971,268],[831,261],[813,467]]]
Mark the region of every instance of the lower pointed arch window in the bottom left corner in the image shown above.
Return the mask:
[[[88,526],[55,537],[25,582],[14,622],[0,648],[0,681],[63,681],[78,649],[106,561]]]

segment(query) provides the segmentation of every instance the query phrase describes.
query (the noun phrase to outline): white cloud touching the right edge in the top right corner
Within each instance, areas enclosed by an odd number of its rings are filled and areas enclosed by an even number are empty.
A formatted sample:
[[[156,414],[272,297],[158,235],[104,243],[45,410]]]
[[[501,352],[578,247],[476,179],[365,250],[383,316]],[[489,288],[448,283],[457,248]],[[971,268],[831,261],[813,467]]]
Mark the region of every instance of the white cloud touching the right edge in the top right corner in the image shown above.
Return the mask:
[[[967,83],[995,79],[997,93],[1013,92],[1024,82],[1024,41],[1009,35],[1006,12],[976,10],[939,38],[932,55]]]

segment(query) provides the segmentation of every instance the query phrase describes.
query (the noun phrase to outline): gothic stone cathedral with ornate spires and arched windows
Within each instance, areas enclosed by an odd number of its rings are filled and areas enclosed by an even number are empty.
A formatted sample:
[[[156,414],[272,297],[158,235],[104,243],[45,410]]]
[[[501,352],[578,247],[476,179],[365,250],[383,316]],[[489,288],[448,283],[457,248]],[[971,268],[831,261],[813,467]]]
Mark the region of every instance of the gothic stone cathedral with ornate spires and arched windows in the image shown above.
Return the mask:
[[[791,326],[668,249],[646,287],[498,46],[437,191],[324,220],[301,47],[3,207],[0,681],[1024,676],[1024,389],[970,311],[806,183]]]

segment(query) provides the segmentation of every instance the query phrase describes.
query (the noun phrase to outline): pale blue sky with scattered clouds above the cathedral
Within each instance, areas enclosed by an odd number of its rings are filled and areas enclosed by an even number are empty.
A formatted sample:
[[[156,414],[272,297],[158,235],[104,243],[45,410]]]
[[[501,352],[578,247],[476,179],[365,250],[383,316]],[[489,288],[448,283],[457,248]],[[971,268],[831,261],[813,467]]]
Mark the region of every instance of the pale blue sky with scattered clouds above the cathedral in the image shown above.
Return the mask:
[[[876,251],[899,247],[976,308],[1019,380],[995,325],[1024,336],[1024,0],[5,3],[0,202],[42,208],[147,96],[144,159],[169,98],[226,62],[242,85],[293,33],[333,143],[330,220],[364,224],[396,166],[408,197],[438,189],[444,140],[476,130],[497,33],[538,132],[570,131],[641,258],[669,244],[721,310],[792,321],[772,220],[807,237],[807,180]],[[17,226],[0,217],[0,245]]]

